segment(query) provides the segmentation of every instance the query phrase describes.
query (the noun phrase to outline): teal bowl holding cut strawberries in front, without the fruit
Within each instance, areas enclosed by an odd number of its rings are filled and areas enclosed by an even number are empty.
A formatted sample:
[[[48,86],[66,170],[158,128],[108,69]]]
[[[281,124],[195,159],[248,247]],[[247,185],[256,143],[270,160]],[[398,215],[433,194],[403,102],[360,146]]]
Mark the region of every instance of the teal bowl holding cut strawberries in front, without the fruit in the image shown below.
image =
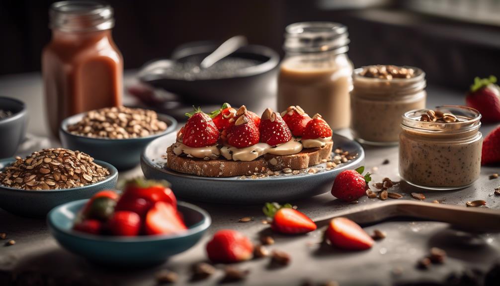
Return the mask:
[[[47,224],[54,238],[67,250],[100,264],[138,266],[162,263],[192,247],[210,226],[210,215],[186,202],[177,202],[188,229],[173,235],[105,236],[72,230],[73,221],[87,199],[52,209]]]

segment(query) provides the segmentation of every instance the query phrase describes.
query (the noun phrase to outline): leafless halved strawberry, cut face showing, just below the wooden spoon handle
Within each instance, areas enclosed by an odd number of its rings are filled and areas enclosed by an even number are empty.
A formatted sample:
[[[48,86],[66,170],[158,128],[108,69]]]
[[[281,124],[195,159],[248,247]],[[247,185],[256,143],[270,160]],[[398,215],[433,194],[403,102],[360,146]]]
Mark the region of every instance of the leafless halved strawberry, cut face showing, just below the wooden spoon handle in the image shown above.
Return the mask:
[[[332,245],[347,250],[364,250],[373,245],[373,239],[361,226],[345,217],[330,220],[326,237]]]

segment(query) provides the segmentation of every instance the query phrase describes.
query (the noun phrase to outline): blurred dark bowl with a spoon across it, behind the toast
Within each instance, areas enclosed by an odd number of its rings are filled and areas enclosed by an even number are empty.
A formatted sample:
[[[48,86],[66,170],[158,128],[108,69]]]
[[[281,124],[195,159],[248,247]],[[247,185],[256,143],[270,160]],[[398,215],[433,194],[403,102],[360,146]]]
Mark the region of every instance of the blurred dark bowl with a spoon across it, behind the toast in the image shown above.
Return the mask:
[[[216,47],[217,45],[213,42],[184,44],[174,51],[172,60],[182,61],[192,55],[206,56]],[[233,106],[245,104],[250,109],[260,109],[260,101],[275,96],[279,55],[269,47],[247,45],[236,50],[231,56],[258,60],[261,63],[241,69],[231,77],[186,80],[147,72],[148,66],[156,62],[151,61],[141,68],[139,79],[152,86],[176,93],[188,103],[229,102]]]

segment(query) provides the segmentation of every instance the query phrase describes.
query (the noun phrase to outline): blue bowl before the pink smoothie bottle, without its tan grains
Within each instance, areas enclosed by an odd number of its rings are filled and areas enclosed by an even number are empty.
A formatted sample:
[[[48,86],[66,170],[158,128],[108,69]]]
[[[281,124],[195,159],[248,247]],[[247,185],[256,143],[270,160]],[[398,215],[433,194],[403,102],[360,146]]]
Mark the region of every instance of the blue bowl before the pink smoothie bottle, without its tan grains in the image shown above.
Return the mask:
[[[62,146],[70,150],[79,150],[92,157],[109,162],[119,170],[135,167],[140,161],[140,153],[152,140],[173,132],[177,121],[168,115],[158,113],[158,118],[167,124],[166,130],[153,135],[128,139],[92,138],[75,135],[67,131],[67,126],[81,120],[85,115],[79,113],[64,119],[59,128]]]

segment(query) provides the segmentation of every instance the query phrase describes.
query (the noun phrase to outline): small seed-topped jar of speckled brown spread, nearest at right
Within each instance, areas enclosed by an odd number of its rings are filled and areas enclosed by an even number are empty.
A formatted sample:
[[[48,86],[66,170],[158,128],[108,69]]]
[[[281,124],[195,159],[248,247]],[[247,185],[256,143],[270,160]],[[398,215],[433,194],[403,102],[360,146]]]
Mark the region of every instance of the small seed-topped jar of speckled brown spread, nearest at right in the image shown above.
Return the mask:
[[[402,179],[427,189],[458,189],[479,177],[482,135],[481,114],[477,110],[445,105],[431,111],[408,111],[402,118]]]

